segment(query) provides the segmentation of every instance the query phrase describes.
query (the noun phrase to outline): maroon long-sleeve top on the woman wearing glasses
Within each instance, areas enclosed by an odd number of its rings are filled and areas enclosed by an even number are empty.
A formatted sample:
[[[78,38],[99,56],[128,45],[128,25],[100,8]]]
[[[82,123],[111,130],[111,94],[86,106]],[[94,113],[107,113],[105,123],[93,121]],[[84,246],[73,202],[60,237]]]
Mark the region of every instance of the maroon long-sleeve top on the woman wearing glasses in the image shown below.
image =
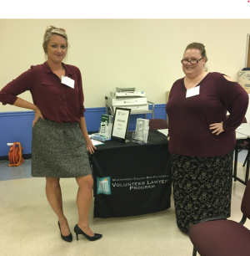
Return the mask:
[[[166,106],[168,150],[182,156],[223,156],[235,146],[235,129],[248,110],[248,94],[217,72],[208,73],[198,85],[199,95],[186,98],[184,79],[173,84]],[[221,121],[224,131],[216,136],[209,125]]]

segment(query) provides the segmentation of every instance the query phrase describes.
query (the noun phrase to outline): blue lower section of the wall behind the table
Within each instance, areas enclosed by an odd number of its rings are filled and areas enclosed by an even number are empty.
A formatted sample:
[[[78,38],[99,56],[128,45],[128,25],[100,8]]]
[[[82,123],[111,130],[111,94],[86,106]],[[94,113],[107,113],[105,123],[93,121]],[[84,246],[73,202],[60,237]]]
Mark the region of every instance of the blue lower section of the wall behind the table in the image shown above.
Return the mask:
[[[152,110],[152,105],[149,106]],[[154,118],[166,120],[166,104],[154,106]],[[106,113],[103,108],[87,108],[84,112],[87,131],[98,131],[102,114]],[[144,118],[144,115],[131,115],[128,125],[128,131],[134,131],[136,120]],[[152,114],[147,115],[152,119]],[[20,142],[23,146],[23,154],[31,154],[32,145],[32,121],[34,119],[33,111],[18,112],[0,112],[0,160],[5,159],[9,151],[9,142]]]

